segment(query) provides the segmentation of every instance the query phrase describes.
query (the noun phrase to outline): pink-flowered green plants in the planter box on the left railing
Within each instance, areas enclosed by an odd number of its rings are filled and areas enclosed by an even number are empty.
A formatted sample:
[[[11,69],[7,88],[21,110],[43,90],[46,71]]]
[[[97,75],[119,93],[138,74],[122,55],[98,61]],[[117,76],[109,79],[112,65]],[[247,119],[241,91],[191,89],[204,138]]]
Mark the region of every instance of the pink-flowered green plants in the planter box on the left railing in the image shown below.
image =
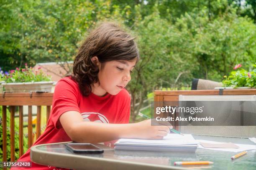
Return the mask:
[[[25,64],[25,68],[18,68],[16,70],[10,70],[5,72],[0,77],[0,81],[5,82],[40,82],[40,81],[51,81],[51,76],[46,75],[41,67],[38,67],[38,70],[28,67]]]

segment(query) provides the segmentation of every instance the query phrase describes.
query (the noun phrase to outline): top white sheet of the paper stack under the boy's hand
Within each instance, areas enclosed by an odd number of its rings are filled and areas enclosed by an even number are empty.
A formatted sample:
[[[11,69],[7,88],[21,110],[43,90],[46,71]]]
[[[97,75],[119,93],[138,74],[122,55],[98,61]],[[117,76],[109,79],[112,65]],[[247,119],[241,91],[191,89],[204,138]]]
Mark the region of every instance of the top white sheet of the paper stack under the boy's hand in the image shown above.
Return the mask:
[[[169,145],[191,145],[199,144],[190,134],[169,133],[162,140],[143,140],[143,139],[119,139],[118,143],[144,143],[144,144],[169,144]]]

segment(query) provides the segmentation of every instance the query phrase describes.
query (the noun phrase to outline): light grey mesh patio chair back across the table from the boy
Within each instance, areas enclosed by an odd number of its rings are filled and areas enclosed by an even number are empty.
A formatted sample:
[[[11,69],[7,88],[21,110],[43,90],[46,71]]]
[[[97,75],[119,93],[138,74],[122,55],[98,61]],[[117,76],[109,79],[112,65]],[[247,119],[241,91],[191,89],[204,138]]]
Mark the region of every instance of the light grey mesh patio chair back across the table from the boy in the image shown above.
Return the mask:
[[[184,101],[194,101],[192,105],[196,105],[196,101],[200,101],[200,103],[205,106],[204,112],[202,113],[202,117],[205,116],[213,116],[213,114],[218,114],[219,121],[223,120],[222,125],[215,125],[211,126],[204,125],[204,126],[180,126],[180,130],[182,133],[189,133],[189,134],[197,134],[197,135],[214,135],[214,136],[229,136],[229,137],[242,137],[242,138],[249,138],[256,136],[256,126],[253,126],[256,122],[256,95],[179,95],[179,105],[183,105]],[[221,101],[219,105],[212,105],[209,101]],[[222,102],[223,101],[223,102]],[[237,101],[244,105],[236,105],[235,102],[225,102],[225,101]],[[229,104],[229,106],[227,105]],[[249,103],[249,105],[248,105]],[[242,110],[241,110],[242,106]],[[191,107],[191,106],[190,106]],[[214,110],[218,108],[218,112]],[[230,110],[230,108],[232,108]],[[246,114],[243,115],[243,112]],[[201,114],[201,113],[200,113]],[[237,119],[237,114],[240,115],[240,120]],[[224,123],[225,120],[230,122],[230,126],[227,125],[227,122]],[[250,126],[243,126],[243,125],[250,125]]]

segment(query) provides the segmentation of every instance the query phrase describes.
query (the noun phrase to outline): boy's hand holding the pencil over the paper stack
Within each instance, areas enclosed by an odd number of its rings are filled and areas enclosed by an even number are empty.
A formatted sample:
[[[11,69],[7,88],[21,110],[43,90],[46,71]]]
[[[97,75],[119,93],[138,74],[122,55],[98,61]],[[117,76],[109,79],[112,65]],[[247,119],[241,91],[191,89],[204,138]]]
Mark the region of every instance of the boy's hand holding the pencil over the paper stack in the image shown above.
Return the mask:
[[[152,125],[151,125],[151,121]],[[166,124],[167,123],[167,124]],[[172,125],[169,122],[164,124],[156,122],[155,119],[144,120],[142,122],[134,123],[133,135],[138,139],[163,139],[170,133]]]

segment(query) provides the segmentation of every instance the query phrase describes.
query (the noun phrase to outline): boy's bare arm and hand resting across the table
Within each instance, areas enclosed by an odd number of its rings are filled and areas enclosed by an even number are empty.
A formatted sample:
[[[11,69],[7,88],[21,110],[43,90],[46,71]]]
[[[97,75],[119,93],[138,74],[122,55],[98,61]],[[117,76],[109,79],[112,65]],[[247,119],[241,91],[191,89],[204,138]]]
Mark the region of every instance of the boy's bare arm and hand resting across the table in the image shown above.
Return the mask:
[[[76,111],[63,113],[59,118],[69,138],[79,143],[100,143],[119,138],[162,139],[172,126],[151,126],[151,120],[131,124],[85,122]]]

